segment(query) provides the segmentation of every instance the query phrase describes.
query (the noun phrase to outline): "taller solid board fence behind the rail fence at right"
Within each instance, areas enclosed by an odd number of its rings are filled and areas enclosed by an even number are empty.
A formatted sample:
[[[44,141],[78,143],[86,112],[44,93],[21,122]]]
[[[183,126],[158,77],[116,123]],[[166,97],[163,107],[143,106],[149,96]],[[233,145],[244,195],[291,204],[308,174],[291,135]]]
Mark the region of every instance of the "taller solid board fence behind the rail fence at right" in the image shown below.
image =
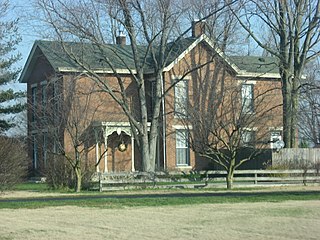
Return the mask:
[[[320,164],[320,148],[284,148],[272,152],[273,166],[289,168],[315,167]]]

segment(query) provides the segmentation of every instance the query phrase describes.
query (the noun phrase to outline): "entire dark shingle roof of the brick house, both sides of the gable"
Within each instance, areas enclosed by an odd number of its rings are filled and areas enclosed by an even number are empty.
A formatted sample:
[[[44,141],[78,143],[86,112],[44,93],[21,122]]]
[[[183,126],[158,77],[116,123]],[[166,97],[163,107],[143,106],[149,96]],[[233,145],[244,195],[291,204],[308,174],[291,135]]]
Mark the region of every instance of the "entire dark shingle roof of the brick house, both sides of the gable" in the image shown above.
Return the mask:
[[[199,38],[181,38],[178,41],[169,43],[167,45],[165,54],[165,66],[173,63],[197,40],[199,40]],[[121,46],[115,44],[106,44],[99,48],[91,43],[67,42],[64,43],[64,46],[72,56],[75,56],[75,58],[84,63],[86,67],[93,70],[112,71],[112,67],[115,69],[125,70],[128,70],[128,68],[131,70],[136,69],[130,45]],[[61,43],[58,41],[38,40],[35,42],[34,48],[39,48],[41,50],[55,70],[69,69],[71,71],[81,71],[83,69],[79,67],[79,64],[77,64],[74,59],[70,58],[70,56],[66,54]],[[146,53],[146,46],[138,46],[140,60],[145,61],[145,64],[143,64],[144,69],[148,72],[152,72],[154,70],[153,58],[150,54],[150,51],[147,56]],[[34,56],[31,55],[29,58],[32,60]],[[223,55],[221,55],[221,57],[223,58]],[[105,58],[109,59],[109,62],[112,63],[112,66],[107,64],[108,61],[105,61]],[[272,57],[230,56],[225,57],[225,59],[230,64],[236,65],[237,68],[242,72],[279,73],[277,61],[275,61],[275,58]],[[22,72],[22,77],[20,77],[20,81],[24,82],[27,80],[25,73],[30,70],[31,69],[28,67],[28,64],[26,64]]]

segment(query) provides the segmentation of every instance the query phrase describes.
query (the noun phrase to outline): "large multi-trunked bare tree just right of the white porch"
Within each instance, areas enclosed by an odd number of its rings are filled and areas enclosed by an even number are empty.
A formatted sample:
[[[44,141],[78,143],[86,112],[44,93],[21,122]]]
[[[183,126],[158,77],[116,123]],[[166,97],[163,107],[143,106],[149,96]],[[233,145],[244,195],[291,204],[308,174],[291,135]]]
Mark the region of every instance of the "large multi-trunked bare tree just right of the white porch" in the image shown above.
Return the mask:
[[[159,138],[159,127],[162,121],[164,83],[163,70],[171,57],[171,52],[177,46],[169,43],[172,31],[179,16],[185,10],[178,6],[179,1],[169,0],[38,0],[45,21],[54,30],[55,36],[62,47],[81,71],[86,71],[88,77],[96,82],[122,108],[131,124],[132,133],[142,155],[143,170],[155,170],[156,145]],[[225,6],[213,11],[220,11]],[[107,29],[123,31],[130,41],[129,51],[132,59],[124,59],[118,51],[110,47],[110,35]],[[116,29],[116,31],[115,31]],[[179,41],[187,33],[185,31],[176,39]],[[90,43],[92,52],[100,54],[102,66],[110,69],[115,76],[117,86],[105,81],[105,76],[92,69],[86,59],[75,54],[67,46],[66,40]],[[112,41],[112,40],[111,40]],[[141,46],[144,45],[144,47]],[[110,56],[112,53],[112,58]],[[123,65],[129,78],[135,84],[139,99],[138,107],[132,108],[127,96],[124,76],[115,66],[115,61]],[[152,69],[152,73],[147,74]],[[150,72],[150,71],[149,71]],[[126,76],[126,77],[127,77]],[[151,118],[148,119],[147,99],[149,90],[146,84],[153,82],[154,96]],[[148,121],[150,120],[150,121]],[[150,126],[149,126],[150,123]]]

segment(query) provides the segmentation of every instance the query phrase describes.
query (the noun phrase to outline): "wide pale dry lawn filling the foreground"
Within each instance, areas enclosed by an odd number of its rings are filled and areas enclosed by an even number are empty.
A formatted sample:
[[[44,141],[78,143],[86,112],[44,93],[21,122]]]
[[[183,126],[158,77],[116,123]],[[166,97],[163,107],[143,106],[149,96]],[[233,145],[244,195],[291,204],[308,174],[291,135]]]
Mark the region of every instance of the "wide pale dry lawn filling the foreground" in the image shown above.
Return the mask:
[[[320,201],[0,210],[0,239],[319,239]]]

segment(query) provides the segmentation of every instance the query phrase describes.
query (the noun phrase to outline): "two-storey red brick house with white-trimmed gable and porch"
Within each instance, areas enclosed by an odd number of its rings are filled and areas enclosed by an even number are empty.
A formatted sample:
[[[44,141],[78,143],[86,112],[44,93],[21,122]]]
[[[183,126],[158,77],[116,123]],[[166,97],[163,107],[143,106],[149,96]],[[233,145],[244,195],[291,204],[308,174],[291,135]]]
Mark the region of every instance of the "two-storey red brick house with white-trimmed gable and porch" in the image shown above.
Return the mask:
[[[104,66],[101,59],[88,44],[68,43],[74,54],[81,54],[96,74],[105,81],[116,84],[114,72]],[[145,51],[141,46],[141,51]],[[132,109],[137,106],[137,86],[128,69],[134,70],[131,48],[125,43],[125,37],[117,38],[117,44],[108,45],[108,56],[114,59],[114,66],[123,79],[126,94],[130,98]],[[201,68],[197,66],[203,65]],[[190,66],[196,70],[190,71]],[[152,64],[147,64],[145,79],[148,81],[149,109],[152,108]],[[217,71],[217,69],[219,69]],[[222,76],[223,72],[223,76]],[[183,76],[183,79],[181,77]],[[150,81],[149,81],[150,79]],[[203,87],[211,84],[212,79],[223,79],[226,86],[241,88],[240,102],[248,109],[256,104],[255,96],[268,93],[255,109],[268,108],[268,119],[263,132],[251,129],[250,133],[263,135],[267,140],[281,138],[282,102],[281,82],[278,67],[269,57],[225,56],[202,32],[201,25],[193,24],[192,37],[180,39],[174,43],[163,72],[163,88],[167,91],[162,104],[161,132],[157,146],[156,166],[165,170],[191,170],[206,168],[208,162],[198,157],[189,147],[190,129],[185,125],[186,105],[196,103],[203,93]],[[172,85],[177,79],[176,84]],[[45,166],[49,151],[56,151],[52,140],[48,118],[59,123],[60,114],[69,114],[56,96],[62,96],[63,104],[72,102],[80,109],[82,134],[90,136],[84,143],[86,162],[96,163],[96,171],[138,171],[141,170],[139,149],[126,115],[109,94],[99,91],[94,81],[88,79],[85,71],[71,61],[63,52],[61,45],[54,41],[36,41],[27,63],[22,71],[20,82],[27,83],[28,96],[28,136],[29,155],[33,159],[34,169]],[[218,82],[218,81],[217,81]],[[216,82],[216,84],[217,84]],[[115,85],[115,89],[116,89]],[[212,88],[212,86],[211,86]],[[211,88],[207,88],[211,89]],[[72,94],[71,94],[72,93]],[[81,94],[80,94],[81,93]],[[208,94],[208,93],[206,93]],[[72,96],[71,96],[72,95]],[[210,94],[209,94],[210,95]],[[61,98],[59,98],[61,100]],[[198,99],[198,100],[196,100]],[[242,100],[241,100],[242,99]],[[247,101],[243,101],[246,99]],[[207,101],[207,100],[206,100]],[[214,100],[213,100],[214,101]],[[230,100],[231,101],[231,100]],[[51,106],[50,115],[47,111]],[[59,110],[60,109],[60,110]],[[61,110],[63,109],[63,110]],[[76,115],[76,113],[73,113]],[[50,115],[50,116],[49,116]],[[59,133],[62,147],[72,151],[72,138],[64,132]],[[248,138],[252,138],[248,136]],[[272,141],[266,140],[265,148],[272,148]],[[121,149],[123,147],[123,149]]]

